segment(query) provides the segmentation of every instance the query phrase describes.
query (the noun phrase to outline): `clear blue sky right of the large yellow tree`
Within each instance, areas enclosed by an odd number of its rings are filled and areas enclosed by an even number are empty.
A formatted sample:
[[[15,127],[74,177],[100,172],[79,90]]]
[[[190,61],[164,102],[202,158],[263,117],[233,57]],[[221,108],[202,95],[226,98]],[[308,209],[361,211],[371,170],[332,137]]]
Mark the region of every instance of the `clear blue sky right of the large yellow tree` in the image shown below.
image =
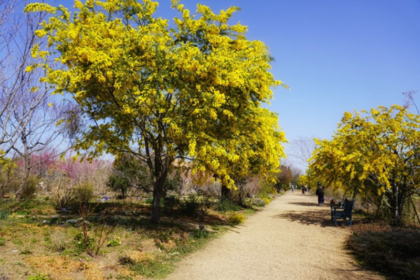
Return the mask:
[[[184,0],[196,10],[197,0]],[[170,0],[158,15],[172,19]],[[419,0],[202,0],[248,26],[248,38],[268,45],[275,78],[271,110],[289,140],[330,138],[344,111],[403,104],[420,91]],[[420,106],[420,92],[416,94]]]

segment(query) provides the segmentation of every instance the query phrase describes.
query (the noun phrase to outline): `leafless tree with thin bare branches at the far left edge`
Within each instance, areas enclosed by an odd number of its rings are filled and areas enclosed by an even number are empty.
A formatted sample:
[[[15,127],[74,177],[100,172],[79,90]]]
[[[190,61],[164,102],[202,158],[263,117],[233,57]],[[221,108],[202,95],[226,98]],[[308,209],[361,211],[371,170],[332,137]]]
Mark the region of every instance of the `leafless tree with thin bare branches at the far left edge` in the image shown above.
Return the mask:
[[[34,155],[45,149],[50,157],[64,153],[83,123],[76,106],[51,96],[40,83],[42,69],[29,71],[39,59],[32,49],[46,43],[35,35],[45,14],[24,13],[26,4],[0,0],[0,156],[13,153],[22,162],[16,196],[31,169],[50,159]]]

